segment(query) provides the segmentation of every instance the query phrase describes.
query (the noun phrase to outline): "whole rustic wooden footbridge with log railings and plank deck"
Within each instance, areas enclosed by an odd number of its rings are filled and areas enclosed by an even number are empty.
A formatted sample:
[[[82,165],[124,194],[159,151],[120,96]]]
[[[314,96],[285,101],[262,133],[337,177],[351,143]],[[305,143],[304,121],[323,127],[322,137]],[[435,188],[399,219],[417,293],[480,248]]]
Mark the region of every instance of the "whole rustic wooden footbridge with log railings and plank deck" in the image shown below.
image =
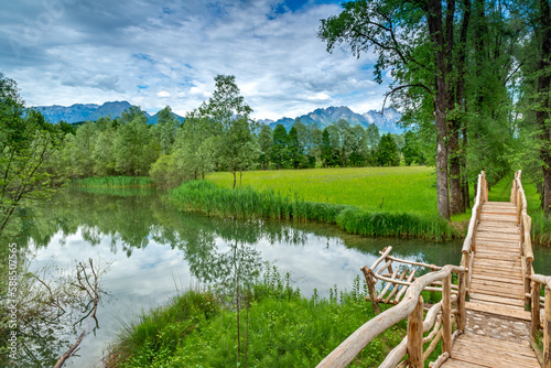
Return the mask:
[[[551,368],[551,277],[533,272],[530,229],[521,172],[515,174],[510,202],[488,202],[480,173],[461,266],[404,261],[392,257],[391,248],[381,251],[370,268],[361,268],[378,315],[317,367],[346,367],[370,340],[408,318],[407,336],[379,368],[422,368],[439,342],[442,353],[432,368]],[[415,270],[403,266],[432,272],[415,278]],[[442,292],[426,313],[422,291]],[[396,305],[380,313],[379,303]]]

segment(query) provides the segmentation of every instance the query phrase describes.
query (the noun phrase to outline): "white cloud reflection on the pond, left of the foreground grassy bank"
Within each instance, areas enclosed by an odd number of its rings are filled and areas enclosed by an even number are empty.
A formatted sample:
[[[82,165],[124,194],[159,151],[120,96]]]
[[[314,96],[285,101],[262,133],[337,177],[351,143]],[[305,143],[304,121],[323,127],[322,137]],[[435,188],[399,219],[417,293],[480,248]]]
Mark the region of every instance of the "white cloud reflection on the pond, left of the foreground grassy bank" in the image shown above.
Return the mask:
[[[183,251],[172,250],[169,246],[151,241],[147,248],[133,249],[132,256],[126,252],[111,252],[111,238],[100,237],[96,246],[80,238],[79,229],[64,237],[57,232],[46,249],[41,249],[33,261],[37,269],[55,258],[60,267],[71,267],[75,260],[101,256],[102,261],[111,263],[110,271],[104,277],[101,285],[112,297],[105,300],[98,310],[100,328],[96,336],[88,335],[80,345],[79,358],[72,358],[67,366],[99,367],[101,353],[114,340],[121,328],[121,322],[136,321],[143,310],[162,305],[175,295],[176,290],[187,289],[195,283],[183,261]],[[60,239],[65,239],[63,245]],[[120,241],[118,242],[120,247]]]

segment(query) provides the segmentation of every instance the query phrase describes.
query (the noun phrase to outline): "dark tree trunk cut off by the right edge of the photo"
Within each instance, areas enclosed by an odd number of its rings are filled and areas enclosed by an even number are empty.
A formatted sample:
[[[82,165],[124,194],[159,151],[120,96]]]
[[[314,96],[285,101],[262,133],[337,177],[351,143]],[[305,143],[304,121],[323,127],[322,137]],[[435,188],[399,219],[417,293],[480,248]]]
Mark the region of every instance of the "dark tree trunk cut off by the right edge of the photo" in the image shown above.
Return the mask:
[[[551,12],[549,0],[540,0],[541,57],[538,65],[538,99],[540,106],[536,111],[536,121],[540,129],[540,156],[543,161],[543,212],[551,215],[551,123],[549,122],[549,93],[551,86]]]

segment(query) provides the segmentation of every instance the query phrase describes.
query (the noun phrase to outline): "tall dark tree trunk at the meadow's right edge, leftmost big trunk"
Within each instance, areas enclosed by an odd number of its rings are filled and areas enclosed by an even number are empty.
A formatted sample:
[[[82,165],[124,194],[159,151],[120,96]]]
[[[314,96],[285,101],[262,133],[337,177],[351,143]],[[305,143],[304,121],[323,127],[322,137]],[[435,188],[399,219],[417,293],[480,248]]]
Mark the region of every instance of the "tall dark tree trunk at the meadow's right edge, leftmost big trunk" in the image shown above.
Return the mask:
[[[434,58],[436,64],[434,97],[434,115],[436,126],[436,197],[439,215],[450,219],[450,199],[447,191],[447,147],[446,147],[446,68],[444,62],[444,37],[442,33],[442,3],[440,0],[426,2],[426,19],[429,33],[434,43]]]

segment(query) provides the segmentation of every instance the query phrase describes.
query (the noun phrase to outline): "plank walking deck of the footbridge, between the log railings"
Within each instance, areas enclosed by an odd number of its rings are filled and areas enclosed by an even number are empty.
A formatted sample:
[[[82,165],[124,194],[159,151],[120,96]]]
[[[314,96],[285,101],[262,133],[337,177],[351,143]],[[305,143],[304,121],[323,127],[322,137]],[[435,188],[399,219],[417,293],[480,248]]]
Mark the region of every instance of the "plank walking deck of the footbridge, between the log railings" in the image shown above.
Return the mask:
[[[530,347],[517,207],[483,204],[476,228],[465,334],[442,367],[540,368]]]

